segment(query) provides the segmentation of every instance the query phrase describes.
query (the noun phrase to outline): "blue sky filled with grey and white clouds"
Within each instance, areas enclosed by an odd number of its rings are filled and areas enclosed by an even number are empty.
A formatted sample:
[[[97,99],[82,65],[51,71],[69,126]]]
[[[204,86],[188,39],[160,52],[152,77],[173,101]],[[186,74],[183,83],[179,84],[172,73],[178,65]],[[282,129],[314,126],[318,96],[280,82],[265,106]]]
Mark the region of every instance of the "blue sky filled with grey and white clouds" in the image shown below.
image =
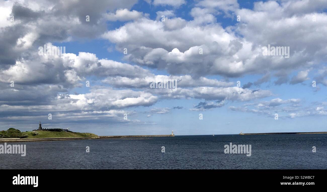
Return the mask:
[[[327,131],[326,10],[325,0],[1,0],[0,130]],[[177,87],[151,88],[169,79]]]

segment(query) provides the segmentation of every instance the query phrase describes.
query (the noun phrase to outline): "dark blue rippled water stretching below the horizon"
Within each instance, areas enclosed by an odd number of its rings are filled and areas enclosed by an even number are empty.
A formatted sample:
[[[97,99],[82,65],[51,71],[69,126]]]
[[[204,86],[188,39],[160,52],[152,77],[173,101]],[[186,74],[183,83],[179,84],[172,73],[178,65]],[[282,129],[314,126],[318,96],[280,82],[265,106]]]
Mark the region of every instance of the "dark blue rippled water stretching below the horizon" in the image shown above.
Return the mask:
[[[251,156],[225,154],[224,146],[230,142],[251,145]],[[327,169],[327,134],[197,135],[7,144],[26,144],[26,156],[0,154],[1,169]],[[89,153],[86,146],[90,147]],[[165,153],[161,152],[162,146]]]

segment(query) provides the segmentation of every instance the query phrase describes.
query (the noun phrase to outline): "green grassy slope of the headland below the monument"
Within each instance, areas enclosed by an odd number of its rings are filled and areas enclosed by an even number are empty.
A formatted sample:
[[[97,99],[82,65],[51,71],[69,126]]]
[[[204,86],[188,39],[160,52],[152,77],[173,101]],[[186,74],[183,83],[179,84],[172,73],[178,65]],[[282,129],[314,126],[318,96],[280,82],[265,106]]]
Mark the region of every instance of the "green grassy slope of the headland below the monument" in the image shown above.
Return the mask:
[[[31,138],[51,138],[51,137],[98,137],[94,133],[79,133],[79,132],[65,132],[65,131],[38,131],[39,135],[32,135],[32,131],[24,132],[28,135],[27,139]]]

